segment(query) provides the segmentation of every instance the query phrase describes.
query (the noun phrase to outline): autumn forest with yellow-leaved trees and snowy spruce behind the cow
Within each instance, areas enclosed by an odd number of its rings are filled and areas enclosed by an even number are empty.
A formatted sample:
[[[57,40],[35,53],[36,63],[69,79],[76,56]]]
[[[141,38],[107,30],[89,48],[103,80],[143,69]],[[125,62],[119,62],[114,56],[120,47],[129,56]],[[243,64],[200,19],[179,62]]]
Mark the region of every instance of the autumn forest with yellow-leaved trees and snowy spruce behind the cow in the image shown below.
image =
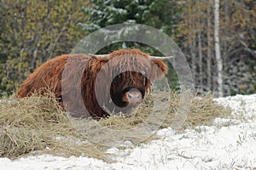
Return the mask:
[[[163,31],[189,62],[196,91],[214,96],[256,93],[254,0],[0,0],[0,97],[46,60],[69,54],[92,31],[138,23]],[[141,48],[117,43],[105,49]],[[167,79],[178,88],[170,69]]]

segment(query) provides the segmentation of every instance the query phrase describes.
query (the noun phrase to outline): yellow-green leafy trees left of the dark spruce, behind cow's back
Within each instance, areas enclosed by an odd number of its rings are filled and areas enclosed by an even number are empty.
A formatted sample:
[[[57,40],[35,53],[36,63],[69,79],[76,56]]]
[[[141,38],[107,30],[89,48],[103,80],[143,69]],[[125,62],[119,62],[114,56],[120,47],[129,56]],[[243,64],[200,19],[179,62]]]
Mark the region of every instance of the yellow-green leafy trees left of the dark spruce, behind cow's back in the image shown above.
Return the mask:
[[[71,51],[84,36],[84,1],[15,1],[0,5],[0,95],[15,91],[38,65]]]

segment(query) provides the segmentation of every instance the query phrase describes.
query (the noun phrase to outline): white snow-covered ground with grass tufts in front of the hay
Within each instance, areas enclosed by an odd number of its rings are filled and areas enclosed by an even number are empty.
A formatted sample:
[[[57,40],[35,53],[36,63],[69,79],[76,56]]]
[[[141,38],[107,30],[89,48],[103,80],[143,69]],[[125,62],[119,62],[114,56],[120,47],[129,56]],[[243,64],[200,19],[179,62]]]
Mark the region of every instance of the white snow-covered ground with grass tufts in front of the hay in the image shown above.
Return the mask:
[[[114,163],[89,157],[30,156],[0,158],[0,169],[253,169],[256,170],[256,94],[216,99],[230,106],[235,118],[215,120],[216,126],[184,133],[158,131],[161,139],[133,149],[112,148]]]

